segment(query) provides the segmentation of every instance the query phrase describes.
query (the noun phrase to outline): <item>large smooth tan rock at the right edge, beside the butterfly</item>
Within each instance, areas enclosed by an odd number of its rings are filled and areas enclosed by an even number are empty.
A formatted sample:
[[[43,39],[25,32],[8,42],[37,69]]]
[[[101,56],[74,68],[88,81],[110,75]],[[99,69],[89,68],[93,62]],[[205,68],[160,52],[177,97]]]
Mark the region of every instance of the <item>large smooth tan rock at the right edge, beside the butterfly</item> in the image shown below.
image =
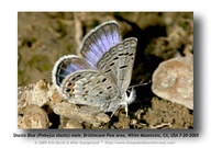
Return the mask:
[[[153,73],[152,90],[159,98],[193,110],[193,57],[162,62]]]

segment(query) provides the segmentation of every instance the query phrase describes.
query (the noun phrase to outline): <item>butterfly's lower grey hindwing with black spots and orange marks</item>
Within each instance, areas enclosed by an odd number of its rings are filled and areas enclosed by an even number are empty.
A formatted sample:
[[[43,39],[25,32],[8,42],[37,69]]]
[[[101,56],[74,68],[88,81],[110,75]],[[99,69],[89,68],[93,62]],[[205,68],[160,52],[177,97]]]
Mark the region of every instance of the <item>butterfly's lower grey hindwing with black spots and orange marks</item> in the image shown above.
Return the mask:
[[[68,75],[62,86],[64,99],[75,104],[97,106],[108,112],[119,92],[116,86],[98,70],[78,70]]]

